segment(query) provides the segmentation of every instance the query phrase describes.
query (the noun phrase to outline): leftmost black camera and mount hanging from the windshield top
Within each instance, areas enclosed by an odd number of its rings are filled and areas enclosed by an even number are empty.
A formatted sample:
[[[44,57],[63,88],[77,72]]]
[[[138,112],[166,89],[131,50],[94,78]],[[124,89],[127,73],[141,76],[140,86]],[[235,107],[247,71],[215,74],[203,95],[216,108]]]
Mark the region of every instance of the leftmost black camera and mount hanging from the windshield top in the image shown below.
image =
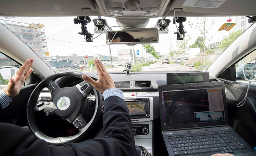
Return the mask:
[[[84,35],[84,39],[86,42],[93,42],[93,34],[89,33],[86,25],[91,22],[91,18],[89,16],[77,16],[74,18],[75,24],[81,24],[81,32],[78,32],[80,35]]]

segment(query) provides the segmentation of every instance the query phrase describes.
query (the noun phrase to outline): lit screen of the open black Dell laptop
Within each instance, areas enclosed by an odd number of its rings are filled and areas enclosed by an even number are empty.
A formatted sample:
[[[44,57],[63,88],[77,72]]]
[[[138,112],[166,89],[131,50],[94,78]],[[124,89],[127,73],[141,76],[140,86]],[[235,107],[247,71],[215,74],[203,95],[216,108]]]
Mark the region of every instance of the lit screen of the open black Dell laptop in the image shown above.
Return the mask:
[[[161,91],[165,126],[224,120],[221,87]]]

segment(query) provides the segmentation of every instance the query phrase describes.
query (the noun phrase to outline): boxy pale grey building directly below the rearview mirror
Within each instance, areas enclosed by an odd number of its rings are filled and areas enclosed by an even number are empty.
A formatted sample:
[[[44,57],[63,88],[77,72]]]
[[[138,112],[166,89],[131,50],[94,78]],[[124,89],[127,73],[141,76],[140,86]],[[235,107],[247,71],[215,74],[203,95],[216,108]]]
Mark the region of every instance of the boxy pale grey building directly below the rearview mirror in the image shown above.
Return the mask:
[[[132,49],[119,49],[117,50],[118,62],[132,62]],[[135,51],[133,51],[135,57]],[[134,58],[135,59],[135,58]]]

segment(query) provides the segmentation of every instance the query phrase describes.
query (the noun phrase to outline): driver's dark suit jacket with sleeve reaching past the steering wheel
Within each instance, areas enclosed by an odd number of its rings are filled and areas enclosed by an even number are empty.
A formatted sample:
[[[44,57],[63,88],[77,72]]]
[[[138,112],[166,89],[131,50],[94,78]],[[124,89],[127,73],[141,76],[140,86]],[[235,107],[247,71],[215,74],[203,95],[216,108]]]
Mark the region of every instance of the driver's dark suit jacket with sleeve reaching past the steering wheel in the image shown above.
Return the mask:
[[[1,123],[1,151],[8,156],[136,156],[131,119],[122,98],[110,96],[104,103],[103,132],[101,138],[63,146],[48,145],[37,140],[25,128]]]

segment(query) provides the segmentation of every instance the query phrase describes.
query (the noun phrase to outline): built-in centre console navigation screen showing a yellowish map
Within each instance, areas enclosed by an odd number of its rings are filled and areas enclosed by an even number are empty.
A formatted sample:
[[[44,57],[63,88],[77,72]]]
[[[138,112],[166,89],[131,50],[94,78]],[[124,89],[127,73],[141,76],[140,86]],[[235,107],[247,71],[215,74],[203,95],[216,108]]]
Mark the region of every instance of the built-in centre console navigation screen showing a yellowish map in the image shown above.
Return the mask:
[[[126,102],[129,114],[145,114],[145,103],[144,101],[132,101]]]

